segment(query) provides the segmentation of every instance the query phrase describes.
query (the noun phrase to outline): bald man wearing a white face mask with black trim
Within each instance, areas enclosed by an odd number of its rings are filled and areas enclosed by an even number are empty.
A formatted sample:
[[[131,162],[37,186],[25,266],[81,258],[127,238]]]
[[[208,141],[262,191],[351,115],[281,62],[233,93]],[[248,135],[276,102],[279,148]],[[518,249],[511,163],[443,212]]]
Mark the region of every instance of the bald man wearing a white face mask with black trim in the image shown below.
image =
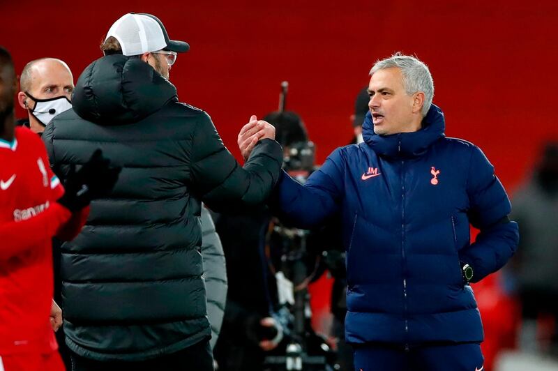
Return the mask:
[[[56,58],[40,58],[25,65],[20,75],[20,92],[17,103],[26,110],[27,118],[17,121],[18,126],[25,126],[43,135],[46,126],[56,115],[72,107],[71,99],[74,91],[72,71],[68,65]],[[62,326],[61,280],[60,280],[60,247],[62,241],[52,239],[52,264],[54,268],[54,302],[52,303],[51,321],[56,332],[58,350],[66,368],[70,368],[70,356]]]

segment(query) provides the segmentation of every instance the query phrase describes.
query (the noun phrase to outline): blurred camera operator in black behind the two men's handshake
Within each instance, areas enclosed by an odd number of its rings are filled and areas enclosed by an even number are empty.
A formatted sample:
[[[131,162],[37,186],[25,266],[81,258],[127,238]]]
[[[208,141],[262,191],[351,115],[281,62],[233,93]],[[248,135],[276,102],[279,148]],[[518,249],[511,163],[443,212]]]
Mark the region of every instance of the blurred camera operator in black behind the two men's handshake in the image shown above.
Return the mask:
[[[264,121],[275,127],[284,160],[289,158],[292,144],[308,142],[306,128],[294,112],[272,112]],[[270,222],[266,206],[242,215],[216,215],[229,283],[223,328],[214,353],[219,370],[263,370],[264,358],[282,340],[284,329],[273,317],[278,297],[268,242]]]

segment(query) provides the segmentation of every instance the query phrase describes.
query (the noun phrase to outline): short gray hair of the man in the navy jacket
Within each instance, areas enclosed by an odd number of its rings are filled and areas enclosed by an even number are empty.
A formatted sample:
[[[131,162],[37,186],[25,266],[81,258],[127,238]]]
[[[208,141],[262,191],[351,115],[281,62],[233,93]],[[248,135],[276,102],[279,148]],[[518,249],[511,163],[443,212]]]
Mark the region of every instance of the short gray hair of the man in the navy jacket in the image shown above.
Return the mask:
[[[376,61],[370,70],[370,76],[377,70],[384,70],[391,67],[397,67],[401,70],[403,75],[403,87],[409,96],[417,91],[422,91],[424,93],[424,105],[421,114],[426,116],[428,109],[430,109],[430,105],[432,105],[432,98],[434,98],[434,81],[432,80],[432,75],[430,75],[428,66],[414,56],[403,55],[397,52],[389,58]]]

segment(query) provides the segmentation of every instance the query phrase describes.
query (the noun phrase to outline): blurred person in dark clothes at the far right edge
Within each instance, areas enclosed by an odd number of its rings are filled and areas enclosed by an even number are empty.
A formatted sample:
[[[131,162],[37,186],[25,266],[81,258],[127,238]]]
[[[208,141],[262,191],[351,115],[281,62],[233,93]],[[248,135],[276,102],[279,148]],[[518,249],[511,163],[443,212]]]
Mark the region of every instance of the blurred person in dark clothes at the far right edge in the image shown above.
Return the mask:
[[[531,179],[515,192],[511,215],[521,229],[511,266],[524,320],[520,346],[558,357],[558,142],[544,146]]]

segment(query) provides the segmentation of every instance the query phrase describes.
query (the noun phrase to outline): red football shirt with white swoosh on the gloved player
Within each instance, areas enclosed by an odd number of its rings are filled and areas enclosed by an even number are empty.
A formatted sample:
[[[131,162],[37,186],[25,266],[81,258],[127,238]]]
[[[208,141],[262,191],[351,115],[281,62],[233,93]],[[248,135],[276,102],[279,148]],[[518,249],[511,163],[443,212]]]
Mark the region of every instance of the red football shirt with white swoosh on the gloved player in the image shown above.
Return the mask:
[[[0,139],[0,356],[57,347],[51,238],[72,216],[56,203],[63,192],[38,135],[16,128],[12,142]]]

